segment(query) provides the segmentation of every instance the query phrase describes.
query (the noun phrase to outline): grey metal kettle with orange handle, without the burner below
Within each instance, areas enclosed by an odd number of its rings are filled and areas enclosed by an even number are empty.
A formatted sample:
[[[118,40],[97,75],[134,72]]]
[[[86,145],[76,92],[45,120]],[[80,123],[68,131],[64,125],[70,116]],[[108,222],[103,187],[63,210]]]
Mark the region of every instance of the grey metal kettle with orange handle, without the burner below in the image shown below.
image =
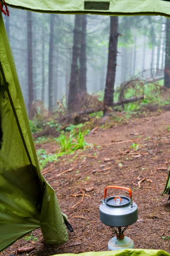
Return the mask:
[[[114,195],[109,198],[107,189],[124,189],[129,192],[130,198],[123,195]],[[132,201],[132,190],[123,186],[107,186],[104,199],[99,207],[100,220],[111,227],[125,227],[133,224],[138,219],[138,207]]]

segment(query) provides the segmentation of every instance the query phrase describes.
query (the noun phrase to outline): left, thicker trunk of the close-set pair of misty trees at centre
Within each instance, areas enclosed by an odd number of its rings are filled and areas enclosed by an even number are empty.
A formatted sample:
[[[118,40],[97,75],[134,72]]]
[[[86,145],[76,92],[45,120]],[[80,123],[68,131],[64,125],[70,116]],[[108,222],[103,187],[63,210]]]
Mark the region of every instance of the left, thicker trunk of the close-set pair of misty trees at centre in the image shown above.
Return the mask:
[[[75,100],[79,91],[78,60],[80,55],[81,28],[82,28],[82,16],[75,15],[73,53],[72,53],[71,75],[70,75],[69,93],[68,93],[68,113],[74,112],[76,107]]]

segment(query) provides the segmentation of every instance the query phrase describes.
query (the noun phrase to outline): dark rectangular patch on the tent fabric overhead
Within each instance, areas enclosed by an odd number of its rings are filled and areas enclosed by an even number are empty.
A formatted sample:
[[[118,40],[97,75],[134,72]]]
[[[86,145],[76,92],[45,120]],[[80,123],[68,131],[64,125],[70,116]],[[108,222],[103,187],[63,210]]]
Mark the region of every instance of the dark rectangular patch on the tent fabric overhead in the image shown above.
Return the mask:
[[[85,10],[109,10],[110,2],[104,1],[85,1]]]

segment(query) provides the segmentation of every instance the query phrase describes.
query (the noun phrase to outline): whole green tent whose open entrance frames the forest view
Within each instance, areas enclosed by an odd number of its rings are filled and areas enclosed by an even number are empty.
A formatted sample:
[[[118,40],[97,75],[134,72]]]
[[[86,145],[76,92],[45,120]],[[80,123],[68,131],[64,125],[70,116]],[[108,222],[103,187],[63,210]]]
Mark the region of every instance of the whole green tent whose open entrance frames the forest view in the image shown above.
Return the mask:
[[[170,17],[169,0],[7,0],[6,3],[14,8],[36,12]],[[40,172],[1,13],[0,92],[3,129],[0,150],[0,251],[39,227],[46,243],[62,244],[68,240],[67,217],[62,214],[54,190]],[[164,193],[170,193],[170,179]]]

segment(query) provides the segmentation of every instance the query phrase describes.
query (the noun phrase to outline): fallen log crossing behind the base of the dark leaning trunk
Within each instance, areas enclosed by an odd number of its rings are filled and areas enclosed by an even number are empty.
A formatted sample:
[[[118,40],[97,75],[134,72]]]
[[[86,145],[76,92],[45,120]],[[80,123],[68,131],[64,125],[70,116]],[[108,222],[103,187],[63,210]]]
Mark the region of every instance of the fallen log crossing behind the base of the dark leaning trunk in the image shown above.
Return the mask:
[[[113,102],[112,107],[120,106],[120,105],[131,103],[131,102],[136,102],[136,101],[141,100],[141,99],[144,99],[144,95],[134,96],[134,97],[131,97],[131,98],[128,98],[128,99],[123,99],[123,100],[119,100],[117,102]],[[74,119],[75,120],[75,119],[78,119],[78,117],[81,116],[81,115],[89,115],[89,114],[99,112],[99,111],[102,111],[102,110],[103,110],[103,107],[88,108],[88,109],[85,109],[85,110],[82,110],[82,111],[79,111],[79,112],[76,112],[76,113],[65,115],[62,118],[60,118],[59,121],[63,122],[66,119]]]

